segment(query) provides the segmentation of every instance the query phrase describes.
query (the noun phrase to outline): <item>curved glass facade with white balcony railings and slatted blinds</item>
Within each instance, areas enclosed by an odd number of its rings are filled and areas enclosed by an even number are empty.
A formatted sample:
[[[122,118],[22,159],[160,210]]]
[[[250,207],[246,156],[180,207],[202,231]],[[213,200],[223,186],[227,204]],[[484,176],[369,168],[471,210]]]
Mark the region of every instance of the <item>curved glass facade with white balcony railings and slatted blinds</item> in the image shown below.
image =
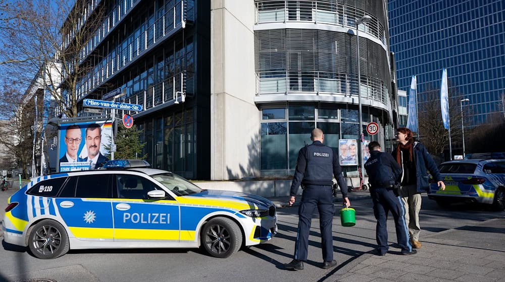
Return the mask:
[[[338,139],[359,138],[359,91],[361,126],[372,120],[382,126],[391,122],[394,95],[384,1],[256,0],[255,6],[255,101],[262,111],[263,174],[294,170],[298,150],[311,143],[314,127],[323,129],[325,143],[335,151]],[[365,15],[371,21],[357,31],[356,22]],[[366,140],[379,140],[365,128],[363,132]]]

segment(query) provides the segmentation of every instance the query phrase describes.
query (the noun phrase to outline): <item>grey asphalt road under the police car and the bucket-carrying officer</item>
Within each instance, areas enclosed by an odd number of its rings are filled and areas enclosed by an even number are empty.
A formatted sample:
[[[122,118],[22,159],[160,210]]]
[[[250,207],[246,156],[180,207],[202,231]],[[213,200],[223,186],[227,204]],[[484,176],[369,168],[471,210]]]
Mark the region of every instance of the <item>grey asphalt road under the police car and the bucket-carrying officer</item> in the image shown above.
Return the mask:
[[[0,220],[12,190],[0,192]],[[56,281],[324,281],[360,255],[375,247],[375,219],[370,198],[351,202],[356,209],[356,226],[342,227],[338,213],[333,222],[333,246],[338,265],[322,269],[317,215],[313,220],[309,261],[302,271],[287,271],[282,264],[291,261],[296,238],[296,207],[278,209],[277,236],[266,244],[246,248],[228,259],[208,256],[199,249],[77,250],[53,260],[34,258],[22,248],[3,242],[0,248],[0,282],[45,278]],[[475,226],[503,217],[481,206],[439,208],[423,197],[421,224],[423,236]],[[394,224],[388,225],[389,241],[395,243]],[[1,240],[0,235],[0,240]],[[390,248],[391,251],[399,249]]]

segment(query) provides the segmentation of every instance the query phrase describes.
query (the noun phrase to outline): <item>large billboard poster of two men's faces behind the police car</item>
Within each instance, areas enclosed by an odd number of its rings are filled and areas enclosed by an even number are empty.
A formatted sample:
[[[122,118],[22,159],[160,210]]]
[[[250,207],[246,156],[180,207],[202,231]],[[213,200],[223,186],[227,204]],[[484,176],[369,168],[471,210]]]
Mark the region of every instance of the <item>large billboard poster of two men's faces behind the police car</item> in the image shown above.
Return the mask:
[[[102,167],[109,159],[112,122],[107,120],[62,123],[58,131],[59,172]]]

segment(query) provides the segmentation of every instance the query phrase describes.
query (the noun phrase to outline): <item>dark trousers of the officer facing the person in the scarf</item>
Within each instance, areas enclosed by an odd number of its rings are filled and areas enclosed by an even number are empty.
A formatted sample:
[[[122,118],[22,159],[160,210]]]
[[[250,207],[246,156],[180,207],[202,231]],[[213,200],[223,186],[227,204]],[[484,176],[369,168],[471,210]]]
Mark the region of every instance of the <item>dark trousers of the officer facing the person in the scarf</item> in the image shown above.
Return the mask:
[[[389,212],[391,212],[394,218],[396,240],[401,247],[401,251],[412,251],[404,218],[405,207],[403,207],[401,199],[396,197],[392,190],[383,187],[370,189],[370,195],[374,202],[375,219],[377,219],[376,237],[377,244],[379,245],[377,251],[384,254],[388,250],[386,221]]]

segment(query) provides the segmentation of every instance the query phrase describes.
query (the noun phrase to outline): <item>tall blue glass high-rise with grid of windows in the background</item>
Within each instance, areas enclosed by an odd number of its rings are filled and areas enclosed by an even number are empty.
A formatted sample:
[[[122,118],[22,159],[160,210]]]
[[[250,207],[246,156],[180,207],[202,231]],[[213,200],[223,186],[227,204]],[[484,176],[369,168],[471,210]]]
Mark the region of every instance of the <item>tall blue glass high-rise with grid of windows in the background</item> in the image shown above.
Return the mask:
[[[422,108],[423,94],[440,89],[447,68],[449,88],[470,100],[465,126],[495,121],[505,93],[505,2],[389,0],[388,14],[398,89],[407,91],[417,76]]]

